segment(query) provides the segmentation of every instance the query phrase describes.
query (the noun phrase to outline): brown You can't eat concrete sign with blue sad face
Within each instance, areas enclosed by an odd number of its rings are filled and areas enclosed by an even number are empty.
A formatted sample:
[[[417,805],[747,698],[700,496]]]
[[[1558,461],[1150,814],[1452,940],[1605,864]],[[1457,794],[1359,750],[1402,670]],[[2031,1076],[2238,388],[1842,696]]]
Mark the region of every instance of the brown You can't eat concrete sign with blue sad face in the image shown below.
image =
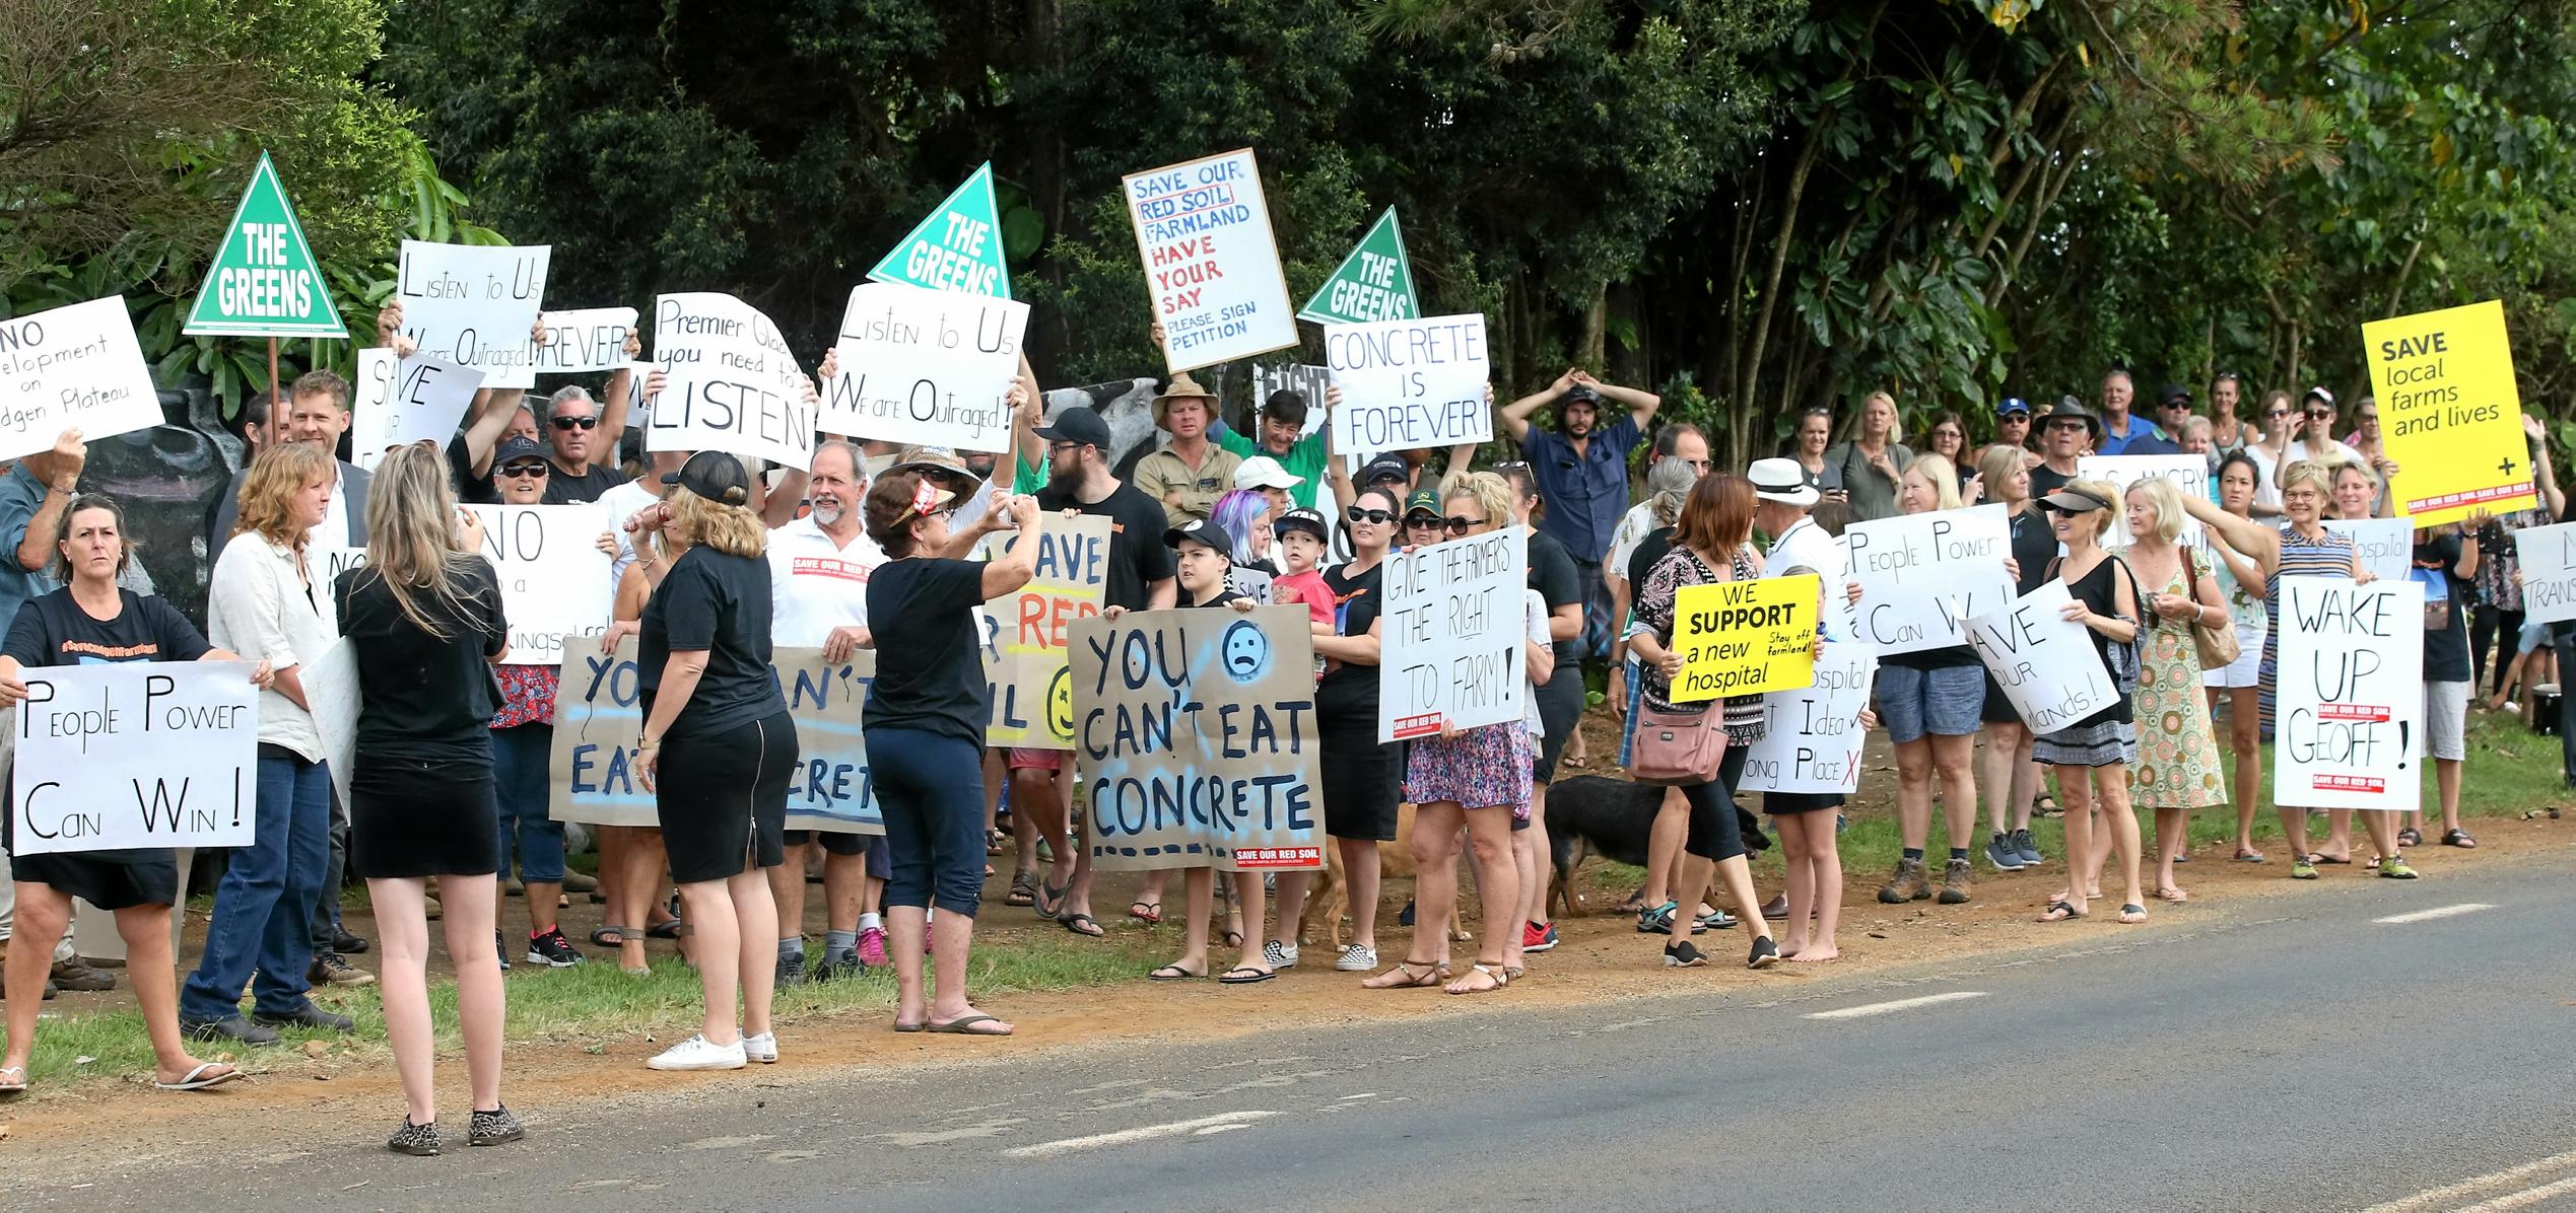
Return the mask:
[[[1324,865],[1306,608],[1136,610],[1072,631],[1092,868]]]

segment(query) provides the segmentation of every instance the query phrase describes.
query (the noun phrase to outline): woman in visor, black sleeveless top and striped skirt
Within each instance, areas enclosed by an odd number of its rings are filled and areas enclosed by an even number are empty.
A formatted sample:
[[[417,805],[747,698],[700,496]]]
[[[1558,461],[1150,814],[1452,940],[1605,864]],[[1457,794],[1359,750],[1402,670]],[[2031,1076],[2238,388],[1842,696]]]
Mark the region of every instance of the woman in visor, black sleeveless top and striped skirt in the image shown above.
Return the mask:
[[[2138,641],[2138,579],[2102,549],[2115,494],[2117,489],[2105,482],[2079,479],[2040,497],[2040,507],[2056,523],[2058,543],[2066,543],[2066,556],[2053,567],[2056,579],[2066,582],[2071,595],[2066,618],[2092,631],[2094,652],[2102,654],[2117,685],[2130,682],[2130,677],[2120,677],[2123,657],[2112,652]],[[2136,662],[2133,654],[2125,659]],[[2146,901],[2138,891],[2138,814],[2128,806],[2125,767],[2138,762],[2138,726],[2130,721],[2130,703],[2123,693],[2102,711],[2040,734],[2030,749],[2035,760],[2058,767],[2058,793],[2066,798],[2066,891],[2048,899],[2040,922],[2079,919],[2087,914],[2087,899],[2097,896],[2087,889],[2094,855],[2089,801],[2102,806],[2128,881],[2120,922],[2146,922]]]

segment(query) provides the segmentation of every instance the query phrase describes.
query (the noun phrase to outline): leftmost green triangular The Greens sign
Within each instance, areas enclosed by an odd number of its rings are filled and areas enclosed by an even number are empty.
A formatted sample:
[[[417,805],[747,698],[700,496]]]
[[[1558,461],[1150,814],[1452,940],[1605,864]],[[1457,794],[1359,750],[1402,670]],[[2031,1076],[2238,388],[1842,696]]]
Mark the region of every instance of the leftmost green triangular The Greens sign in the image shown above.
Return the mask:
[[[224,247],[214,250],[206,283],[188,309],[191,337],[348,337],[340,309],[330,301],[322,263],[304,242],[278,170],[260,152],[260,167],[224,227]]]

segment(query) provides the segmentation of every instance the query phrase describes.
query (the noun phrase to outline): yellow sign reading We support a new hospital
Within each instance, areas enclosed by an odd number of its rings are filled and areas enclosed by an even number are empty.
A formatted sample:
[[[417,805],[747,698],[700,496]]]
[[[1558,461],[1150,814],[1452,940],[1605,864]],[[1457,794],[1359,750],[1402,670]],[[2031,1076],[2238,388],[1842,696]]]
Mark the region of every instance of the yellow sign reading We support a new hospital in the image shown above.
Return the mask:
[[[1816,595],[1814,574],[1685,585],[1672,605],[1672,649],[1682,654],[1672,701],[1816,685]]]

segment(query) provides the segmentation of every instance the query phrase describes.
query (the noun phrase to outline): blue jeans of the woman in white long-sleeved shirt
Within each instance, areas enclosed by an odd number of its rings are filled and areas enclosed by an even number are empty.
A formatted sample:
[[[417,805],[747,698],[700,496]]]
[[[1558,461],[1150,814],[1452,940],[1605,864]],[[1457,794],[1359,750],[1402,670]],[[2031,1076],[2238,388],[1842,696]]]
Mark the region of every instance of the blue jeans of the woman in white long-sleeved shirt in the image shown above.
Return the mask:
[[[240,1015],[252,968],[260,973],[258,1010],[294,1015],[312,1002],[304,971],[314,961],[312,907],[330,865],[330,767],[260,755],[255,829],[214,886],[206,958],[178,994],[185,1022]]]

